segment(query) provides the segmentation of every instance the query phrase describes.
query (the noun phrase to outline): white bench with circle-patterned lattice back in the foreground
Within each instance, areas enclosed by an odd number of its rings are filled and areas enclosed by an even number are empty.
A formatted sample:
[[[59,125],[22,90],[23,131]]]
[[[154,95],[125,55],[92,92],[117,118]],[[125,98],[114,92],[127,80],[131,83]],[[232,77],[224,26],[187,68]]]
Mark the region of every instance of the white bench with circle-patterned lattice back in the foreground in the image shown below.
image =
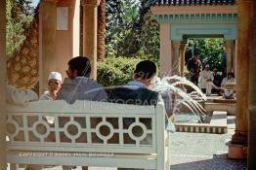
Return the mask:
[[[54,117],[54,123],[48,123],[46,116]],[[129,126],[123,120],[127,118],[134,120]],[[7,131],[8,163],[170,169],[162,103],[9,105]]]

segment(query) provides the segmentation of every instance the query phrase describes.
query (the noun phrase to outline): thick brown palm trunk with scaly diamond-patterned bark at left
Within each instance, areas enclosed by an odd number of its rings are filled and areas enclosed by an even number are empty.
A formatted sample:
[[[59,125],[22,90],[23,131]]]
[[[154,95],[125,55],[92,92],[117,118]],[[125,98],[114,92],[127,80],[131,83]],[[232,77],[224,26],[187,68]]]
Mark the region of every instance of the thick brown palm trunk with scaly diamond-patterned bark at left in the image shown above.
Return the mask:
[[[10,85],[18,88],[33,88],[39,79],[39,10],[25,33],[26,39],[19,51],[7,61]]]

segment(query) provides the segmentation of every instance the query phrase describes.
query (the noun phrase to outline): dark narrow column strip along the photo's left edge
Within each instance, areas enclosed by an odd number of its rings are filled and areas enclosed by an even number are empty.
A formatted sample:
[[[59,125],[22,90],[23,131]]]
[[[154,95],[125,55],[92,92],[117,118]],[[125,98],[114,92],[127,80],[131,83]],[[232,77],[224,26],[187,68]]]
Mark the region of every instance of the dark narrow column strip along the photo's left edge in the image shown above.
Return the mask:
[[[0,169],[6,169],[6,0],[0,0]]]

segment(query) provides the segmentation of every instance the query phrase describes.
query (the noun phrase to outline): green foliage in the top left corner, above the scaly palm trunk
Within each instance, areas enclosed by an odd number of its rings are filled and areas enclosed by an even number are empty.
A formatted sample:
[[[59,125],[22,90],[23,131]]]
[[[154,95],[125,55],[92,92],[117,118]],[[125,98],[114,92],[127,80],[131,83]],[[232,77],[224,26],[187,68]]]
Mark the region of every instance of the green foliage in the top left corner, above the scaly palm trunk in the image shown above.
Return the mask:
[[[30,3],[30,0],[7,0],[6,2],[6,50],[8,56],[18,51],[25,39],[24,32],[29,28],[32,20]]]

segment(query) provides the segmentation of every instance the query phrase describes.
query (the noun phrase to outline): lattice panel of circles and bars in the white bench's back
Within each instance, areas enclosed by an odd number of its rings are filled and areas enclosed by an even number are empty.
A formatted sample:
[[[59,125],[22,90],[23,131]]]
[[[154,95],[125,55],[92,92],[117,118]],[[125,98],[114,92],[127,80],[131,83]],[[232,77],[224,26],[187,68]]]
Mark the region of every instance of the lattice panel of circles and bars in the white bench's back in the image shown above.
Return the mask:
[[[54,119],[49,123],[47,119]],[[124,146],[148,148],[153,140],[154,116],[112,116],[100,117],[89,114],[47,114],[9,113],[7,132],[11,142],[40,144],[42,146],[75,144],[76,146],[109,147]],[[35,149],[36,150],[36,149]],[[145,151],[144,151],[145,152]],[[134,152],[133,152],[134,153]]]

